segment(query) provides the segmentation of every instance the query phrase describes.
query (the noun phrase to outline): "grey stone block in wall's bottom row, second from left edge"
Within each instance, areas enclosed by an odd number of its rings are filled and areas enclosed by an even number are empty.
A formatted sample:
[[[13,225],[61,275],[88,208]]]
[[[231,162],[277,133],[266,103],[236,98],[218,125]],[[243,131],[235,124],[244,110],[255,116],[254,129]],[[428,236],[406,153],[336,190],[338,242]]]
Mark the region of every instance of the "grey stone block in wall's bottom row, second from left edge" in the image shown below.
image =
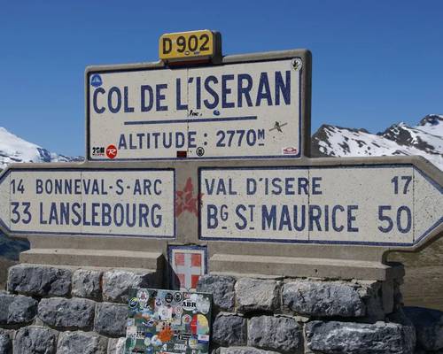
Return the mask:
[[[57,332],[50,328],[23,327],[13,341],[14,354],[54,354]]]

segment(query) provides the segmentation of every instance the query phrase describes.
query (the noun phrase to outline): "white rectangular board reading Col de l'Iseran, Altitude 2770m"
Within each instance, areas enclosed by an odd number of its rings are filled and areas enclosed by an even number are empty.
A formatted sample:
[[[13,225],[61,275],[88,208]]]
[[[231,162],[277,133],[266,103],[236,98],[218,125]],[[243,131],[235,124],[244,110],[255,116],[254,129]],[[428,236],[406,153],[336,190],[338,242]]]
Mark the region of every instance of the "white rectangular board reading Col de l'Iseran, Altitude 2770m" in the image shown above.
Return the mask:
[[[300,58],[88,73],[89,160],[299,158]]]

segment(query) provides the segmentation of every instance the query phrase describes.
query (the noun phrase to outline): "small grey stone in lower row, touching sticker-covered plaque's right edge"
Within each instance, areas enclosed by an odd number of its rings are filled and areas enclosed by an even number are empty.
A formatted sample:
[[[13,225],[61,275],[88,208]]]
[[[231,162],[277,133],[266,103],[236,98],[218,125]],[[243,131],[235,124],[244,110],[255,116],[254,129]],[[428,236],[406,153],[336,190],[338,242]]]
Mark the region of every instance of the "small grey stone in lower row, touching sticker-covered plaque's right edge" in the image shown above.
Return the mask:
[[[220,345],[245,345],[246,331],[245,318],[221,312],[214,319],[212,340]]]

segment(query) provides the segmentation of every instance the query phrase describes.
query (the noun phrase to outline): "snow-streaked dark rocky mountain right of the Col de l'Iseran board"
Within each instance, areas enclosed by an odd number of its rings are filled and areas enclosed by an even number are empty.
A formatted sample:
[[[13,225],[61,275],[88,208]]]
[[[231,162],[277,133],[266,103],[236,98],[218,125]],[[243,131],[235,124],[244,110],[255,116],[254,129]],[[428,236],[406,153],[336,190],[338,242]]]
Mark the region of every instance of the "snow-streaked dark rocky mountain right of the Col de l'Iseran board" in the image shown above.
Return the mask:
[[[443,170],[443,115],[430,114],[415,127],[394,124],[384,132],[323,125],[312,136],[313,157],[421,155]]]

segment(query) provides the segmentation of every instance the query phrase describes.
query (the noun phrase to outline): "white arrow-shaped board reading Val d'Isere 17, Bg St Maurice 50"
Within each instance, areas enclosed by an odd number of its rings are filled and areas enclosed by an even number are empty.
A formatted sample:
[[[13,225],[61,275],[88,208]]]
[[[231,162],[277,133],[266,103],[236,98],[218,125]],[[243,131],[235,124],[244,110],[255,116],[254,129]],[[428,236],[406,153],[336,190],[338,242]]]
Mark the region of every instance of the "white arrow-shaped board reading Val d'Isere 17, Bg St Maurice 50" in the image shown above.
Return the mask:
[[[412,245],[443,222],[413,165],[201,168],[199,238]]]

